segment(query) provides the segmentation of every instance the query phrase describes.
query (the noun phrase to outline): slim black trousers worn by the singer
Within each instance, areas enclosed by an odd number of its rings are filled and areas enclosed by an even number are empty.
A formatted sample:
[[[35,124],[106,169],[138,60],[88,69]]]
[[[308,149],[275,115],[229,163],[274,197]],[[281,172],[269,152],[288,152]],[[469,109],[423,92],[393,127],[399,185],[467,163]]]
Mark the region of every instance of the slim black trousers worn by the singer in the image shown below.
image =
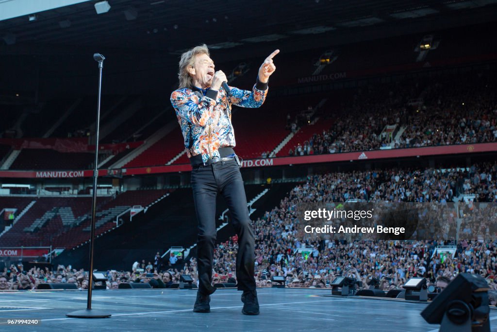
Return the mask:
[[[223,195],[232,215],[232,224],[238,234],[237,280],[238,289],[255,289],[254,235],[248,217],[247,197],[240,168],[235,160],[194,167],[191,172],[193,199],[198,220],[197,269],[199,291],[214,293],[212,261],[216,242],[216,197]]]

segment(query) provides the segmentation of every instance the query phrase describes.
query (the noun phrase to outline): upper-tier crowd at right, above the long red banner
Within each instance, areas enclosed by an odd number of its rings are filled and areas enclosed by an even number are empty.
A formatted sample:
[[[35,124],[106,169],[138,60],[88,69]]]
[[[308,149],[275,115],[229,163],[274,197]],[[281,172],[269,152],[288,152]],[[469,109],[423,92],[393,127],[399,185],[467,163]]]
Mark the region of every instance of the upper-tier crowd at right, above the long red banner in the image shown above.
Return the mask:
[[[312,155],[378,150],[382,147],[486,143],[497,141],[495,77],[468,75],[467,80],[444,77],[430,84],[368,86],[340,106],[329,130],[289,150]],[[329,114],[328,114],[329,115]],[[384,130],[395,126],[392,131]],[[399,130],[403,130],[397,135]]]

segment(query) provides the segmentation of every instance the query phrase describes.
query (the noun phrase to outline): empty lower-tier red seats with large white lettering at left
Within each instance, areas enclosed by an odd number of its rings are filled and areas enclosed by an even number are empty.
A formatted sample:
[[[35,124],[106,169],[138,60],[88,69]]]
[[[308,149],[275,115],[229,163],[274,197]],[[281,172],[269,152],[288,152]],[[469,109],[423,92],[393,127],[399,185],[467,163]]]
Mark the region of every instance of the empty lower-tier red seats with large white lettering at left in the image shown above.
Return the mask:
[[[97,200],[96,228],[100,234],[115,226],[120,213],[137,205],[146,207],[166,193],[165,190],[127,191],[112,199]],[[71,247],[88,239],[91,221],[91,197],[0,198],[6,208],[21,211],[29,202],[36,203],[5,234],[1,241],[6,246]]]

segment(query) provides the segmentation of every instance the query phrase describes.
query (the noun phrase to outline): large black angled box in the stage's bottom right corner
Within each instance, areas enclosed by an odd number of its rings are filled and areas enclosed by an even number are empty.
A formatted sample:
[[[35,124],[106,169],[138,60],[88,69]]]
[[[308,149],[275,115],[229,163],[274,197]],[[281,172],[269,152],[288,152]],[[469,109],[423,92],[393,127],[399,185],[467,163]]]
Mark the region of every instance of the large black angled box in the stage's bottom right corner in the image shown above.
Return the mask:
[[[490,332],[489,285],[479,275],[460,273],[421,316],[440,331]]]

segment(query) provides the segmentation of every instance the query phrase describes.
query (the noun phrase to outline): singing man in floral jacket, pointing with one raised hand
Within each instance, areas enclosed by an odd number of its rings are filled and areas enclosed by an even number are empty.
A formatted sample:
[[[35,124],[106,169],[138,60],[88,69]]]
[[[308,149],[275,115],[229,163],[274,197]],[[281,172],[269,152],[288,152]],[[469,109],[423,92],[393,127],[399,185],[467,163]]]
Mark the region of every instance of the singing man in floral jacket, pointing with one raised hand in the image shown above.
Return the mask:
[[[267,81],[276,70],[272,52],[259,68],[252,91],[221,88],[226,75],[214,71],[207,45],[196,46],[181,55],[179,88],[171,94],[184,145],[192,166],[191,185],[198,220],[197,264],[199,287],[193,307],[196,313],[210,312],[212,260],[216,241],[216,196],[223,195],[238,234],[236,273],[238,290],[243,291],[242,313],[258,315],[255,291],[254,235],[248,217],[247,198],[240,174],[241,162],[235,154],[235,133],[231,123],[232,105],[257,108],[267,95]],[[228,95],[231,90],[232,96]],[[254,128],[256,130],[256,128]]]

